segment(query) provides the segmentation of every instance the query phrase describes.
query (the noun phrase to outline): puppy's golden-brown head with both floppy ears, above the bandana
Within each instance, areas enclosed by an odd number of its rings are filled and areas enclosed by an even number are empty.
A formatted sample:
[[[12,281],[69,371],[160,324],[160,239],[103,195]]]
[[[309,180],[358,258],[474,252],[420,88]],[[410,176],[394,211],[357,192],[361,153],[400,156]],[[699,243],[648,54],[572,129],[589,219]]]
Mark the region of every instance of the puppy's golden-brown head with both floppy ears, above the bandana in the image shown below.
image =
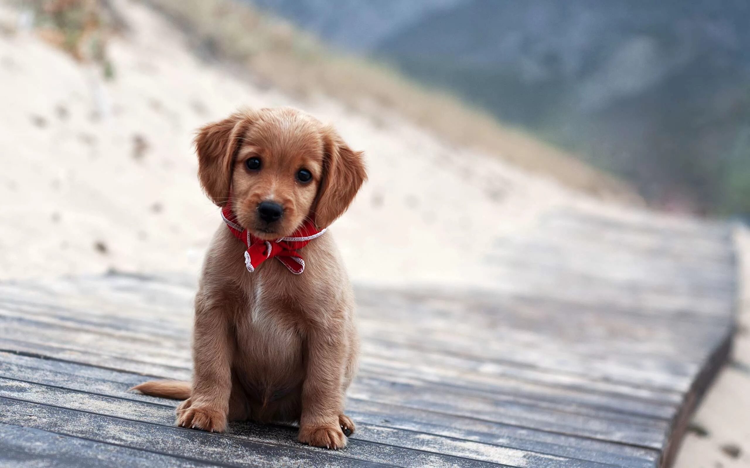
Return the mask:
[[[203,127],[195,143],[208,197],[223,207],[231,193],[240,224],[266,240],[289,236],[308,218],[327,227],[367,177],[362,152],[288,107],[230,115]]]

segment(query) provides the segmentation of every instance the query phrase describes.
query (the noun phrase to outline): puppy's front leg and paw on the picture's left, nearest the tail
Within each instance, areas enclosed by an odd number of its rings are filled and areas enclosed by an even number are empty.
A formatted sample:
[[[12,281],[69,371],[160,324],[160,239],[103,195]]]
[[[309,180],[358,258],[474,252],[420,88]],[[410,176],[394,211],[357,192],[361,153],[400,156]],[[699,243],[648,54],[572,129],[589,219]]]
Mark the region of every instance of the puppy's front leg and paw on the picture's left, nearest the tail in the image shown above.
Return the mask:
[[[177,408],[177,425],[202,431],[226,431],[232,346],[225,311],[196,297],[193,329],[193,388]]]

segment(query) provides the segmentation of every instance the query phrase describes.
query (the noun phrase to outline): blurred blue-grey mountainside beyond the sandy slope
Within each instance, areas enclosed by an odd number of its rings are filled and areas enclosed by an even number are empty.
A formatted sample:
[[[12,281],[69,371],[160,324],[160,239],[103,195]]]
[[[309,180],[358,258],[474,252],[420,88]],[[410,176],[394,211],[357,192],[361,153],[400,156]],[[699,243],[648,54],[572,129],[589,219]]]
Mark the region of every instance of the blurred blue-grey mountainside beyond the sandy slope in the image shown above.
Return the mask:
[[[750,212],[750,3],[253,0],[636,184]]]

